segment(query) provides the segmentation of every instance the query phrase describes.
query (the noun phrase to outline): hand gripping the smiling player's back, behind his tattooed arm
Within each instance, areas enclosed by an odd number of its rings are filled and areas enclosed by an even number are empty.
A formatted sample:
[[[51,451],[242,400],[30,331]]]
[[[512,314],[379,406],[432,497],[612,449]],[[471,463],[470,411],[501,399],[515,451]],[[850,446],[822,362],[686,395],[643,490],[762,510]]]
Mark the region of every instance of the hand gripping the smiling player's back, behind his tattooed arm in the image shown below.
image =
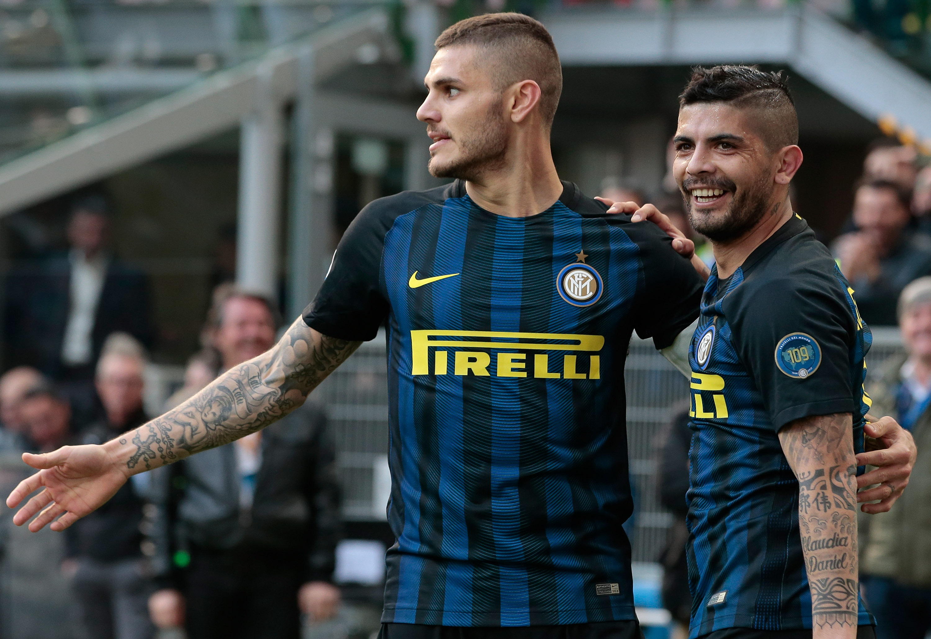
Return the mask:
[[[915,448],[911,433],[899,426],[892,417],[876,419],[867,415],[867,420],[863,429],[872,438],[868,440],[871,445],[867,447],[867,452],[857,455],[857,465],[877,468],[857,477],[857,501],[880,499],[878,504],[863,504],[860,507],[864,512],[875,514],[887,512],[902,495],[909,483],[918,449]],[[867,488],[875,483],[880,485]]]

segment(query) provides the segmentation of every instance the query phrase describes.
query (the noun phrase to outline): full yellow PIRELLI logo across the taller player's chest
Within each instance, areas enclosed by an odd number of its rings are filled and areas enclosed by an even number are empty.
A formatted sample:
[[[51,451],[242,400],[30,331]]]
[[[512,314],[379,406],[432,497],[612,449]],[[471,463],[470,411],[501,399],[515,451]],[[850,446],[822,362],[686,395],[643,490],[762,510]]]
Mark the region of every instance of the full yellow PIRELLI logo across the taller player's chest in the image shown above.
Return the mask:
[[[412,374],[600,379],[602,347],[601,335],[412,331]]]

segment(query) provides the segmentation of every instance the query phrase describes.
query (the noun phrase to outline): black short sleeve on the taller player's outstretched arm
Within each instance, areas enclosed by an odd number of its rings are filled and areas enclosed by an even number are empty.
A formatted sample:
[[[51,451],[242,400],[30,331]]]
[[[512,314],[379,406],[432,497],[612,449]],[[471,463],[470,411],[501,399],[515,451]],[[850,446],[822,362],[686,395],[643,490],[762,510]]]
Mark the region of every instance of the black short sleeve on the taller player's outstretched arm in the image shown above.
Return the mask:
[[[372,202],[349,224],[323,286],[304,309],[304,323],[328,337],[371,340],[387,316],[379,275],[390,221],[381,214],[380,203]]]

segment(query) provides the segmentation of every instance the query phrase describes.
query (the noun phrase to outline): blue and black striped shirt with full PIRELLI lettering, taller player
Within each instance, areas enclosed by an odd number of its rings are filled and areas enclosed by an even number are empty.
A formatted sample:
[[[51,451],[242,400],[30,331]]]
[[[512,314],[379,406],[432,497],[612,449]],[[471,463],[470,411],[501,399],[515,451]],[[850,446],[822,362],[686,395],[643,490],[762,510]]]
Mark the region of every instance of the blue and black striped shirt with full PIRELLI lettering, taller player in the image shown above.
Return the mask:
[[[463,182],[376,200],[304,311],[346,340],[387,325],[385,622],[636,619],[627,345],[669,346],[702,284],[654,224],[563,184],[524,218]]]

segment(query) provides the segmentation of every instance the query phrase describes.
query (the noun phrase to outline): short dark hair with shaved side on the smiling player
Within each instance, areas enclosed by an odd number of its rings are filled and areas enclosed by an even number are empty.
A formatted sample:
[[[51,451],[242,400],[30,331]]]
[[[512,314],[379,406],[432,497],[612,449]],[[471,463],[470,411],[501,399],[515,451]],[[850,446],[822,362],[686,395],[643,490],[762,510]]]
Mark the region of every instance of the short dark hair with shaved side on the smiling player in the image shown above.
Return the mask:
[[[722,64],[695,67],[679,96],[679,105],[726,102],[757,112],[760,137],[771,151],[799,143],[799,116],[781,71],[761,71],[756,65]]]

